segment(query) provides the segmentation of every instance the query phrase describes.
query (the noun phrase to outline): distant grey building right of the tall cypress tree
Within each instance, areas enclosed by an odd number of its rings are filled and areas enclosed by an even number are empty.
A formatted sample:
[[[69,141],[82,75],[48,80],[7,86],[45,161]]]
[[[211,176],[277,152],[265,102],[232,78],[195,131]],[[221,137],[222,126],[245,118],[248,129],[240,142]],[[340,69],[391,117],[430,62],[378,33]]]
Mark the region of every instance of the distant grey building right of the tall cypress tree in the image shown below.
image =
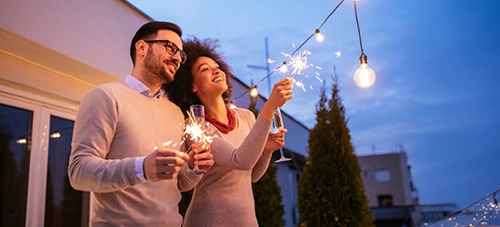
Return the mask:
[[[406,154],[365,155],[358,160],[376,226],[419,226],[418,194]]]

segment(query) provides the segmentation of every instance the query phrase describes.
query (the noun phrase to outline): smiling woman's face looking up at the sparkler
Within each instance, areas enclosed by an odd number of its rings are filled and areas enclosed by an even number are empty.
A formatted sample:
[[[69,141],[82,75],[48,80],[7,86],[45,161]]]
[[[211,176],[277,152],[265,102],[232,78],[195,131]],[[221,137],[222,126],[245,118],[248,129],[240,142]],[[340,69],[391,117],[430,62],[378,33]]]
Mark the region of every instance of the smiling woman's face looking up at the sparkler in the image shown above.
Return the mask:
[[[227,90],[225,73],[212,58],[200,56],[191,68],[193,92],[203,100],[204,97],[221,96]]]

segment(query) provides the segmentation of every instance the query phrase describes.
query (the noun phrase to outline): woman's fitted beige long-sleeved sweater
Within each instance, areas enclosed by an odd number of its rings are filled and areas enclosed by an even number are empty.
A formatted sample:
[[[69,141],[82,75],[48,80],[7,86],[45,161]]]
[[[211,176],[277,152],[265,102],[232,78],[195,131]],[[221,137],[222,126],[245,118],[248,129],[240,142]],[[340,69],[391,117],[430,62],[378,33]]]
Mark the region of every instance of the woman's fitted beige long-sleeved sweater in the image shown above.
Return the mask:
[[[215,164],[195,186],[184,227],[258,226],[252,182],[269,165],[264,150],[271,123],[245,109],[234,109],[237,125],[227,134],[217,132],[211,145]],[[227,144],[217,140],[225,140]]]

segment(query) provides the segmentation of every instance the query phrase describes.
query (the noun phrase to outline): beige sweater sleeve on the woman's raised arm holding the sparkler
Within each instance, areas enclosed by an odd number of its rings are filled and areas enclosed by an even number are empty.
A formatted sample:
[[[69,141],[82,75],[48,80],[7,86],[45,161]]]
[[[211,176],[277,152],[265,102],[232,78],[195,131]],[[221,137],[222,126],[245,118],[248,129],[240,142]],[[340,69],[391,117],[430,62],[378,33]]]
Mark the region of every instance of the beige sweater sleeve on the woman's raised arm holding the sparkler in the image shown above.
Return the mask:
[[[215,163],[236,170],[252,170],[262,155],[270,127],[271,123],[259,115],[239,147],[216,137],[211,143]]]

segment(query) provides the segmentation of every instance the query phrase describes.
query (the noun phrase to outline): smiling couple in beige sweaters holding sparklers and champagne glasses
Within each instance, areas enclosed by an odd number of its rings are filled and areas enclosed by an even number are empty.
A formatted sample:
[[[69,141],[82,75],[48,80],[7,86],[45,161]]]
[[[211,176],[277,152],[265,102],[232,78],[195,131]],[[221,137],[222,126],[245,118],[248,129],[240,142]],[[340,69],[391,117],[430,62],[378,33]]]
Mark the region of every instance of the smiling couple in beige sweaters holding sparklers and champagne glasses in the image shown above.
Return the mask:
[[[257,226],[251,182],[284,145],[285,130],[269,129],[292,97],[291,79],[275,84],[257,119],[228,109],[232,71],[218,45],[192,38],[183,48],[181,35],[172,23],[141,26],[130,46],[132,74],[80,104],[68,175],[76,190],[94,192],[91,226],[181,226],[180,192],[194,187],[184,226]],[[217,137],[186,154],[176,144],[191,104],[205,105]],[[187,172],[195,162],[207,172]]]

